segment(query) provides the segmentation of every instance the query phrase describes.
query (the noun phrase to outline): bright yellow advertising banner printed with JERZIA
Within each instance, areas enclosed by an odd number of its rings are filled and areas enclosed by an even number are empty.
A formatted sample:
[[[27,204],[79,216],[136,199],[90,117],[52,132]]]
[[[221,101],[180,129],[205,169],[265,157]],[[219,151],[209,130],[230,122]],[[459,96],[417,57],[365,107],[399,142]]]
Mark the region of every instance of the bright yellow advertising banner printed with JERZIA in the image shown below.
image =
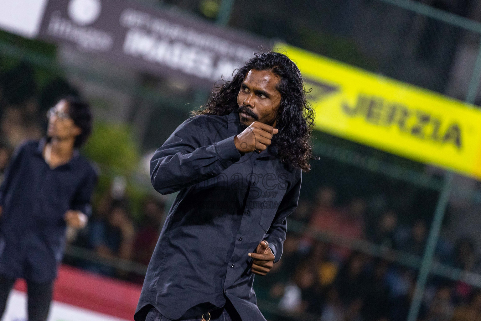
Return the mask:
[[[312,88],[316,128],[481,179],[481,110],[285,44]]]

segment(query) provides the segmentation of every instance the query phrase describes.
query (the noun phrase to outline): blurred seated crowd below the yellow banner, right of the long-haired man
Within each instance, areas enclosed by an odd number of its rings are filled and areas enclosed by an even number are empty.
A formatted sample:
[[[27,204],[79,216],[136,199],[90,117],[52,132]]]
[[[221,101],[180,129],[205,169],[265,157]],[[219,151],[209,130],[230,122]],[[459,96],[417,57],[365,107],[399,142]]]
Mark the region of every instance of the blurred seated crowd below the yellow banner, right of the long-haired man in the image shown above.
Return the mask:
[[[369,217],[366,201],[354,198],[335,205],[336,192],[321,187],[314,202],[300,201],[292,215],[311,231],[328,231],[363,239],[392,250],[421,256],[427,226],[422,220],[399,224],[396,212]],[[280,261],[264,278],[256,278],[259,300],[291,312],[320,315],[321,321],[405,321],[413,297],[417,271],[400,264],[288,232]],[[456,242],[442,237],[436,259],[451,266],[480,272],[480,258],[469,238]],[[285,317],[270,320],[286,320]],[[481,320],[481,291],[464,282],[431,276],[419,320]]]

